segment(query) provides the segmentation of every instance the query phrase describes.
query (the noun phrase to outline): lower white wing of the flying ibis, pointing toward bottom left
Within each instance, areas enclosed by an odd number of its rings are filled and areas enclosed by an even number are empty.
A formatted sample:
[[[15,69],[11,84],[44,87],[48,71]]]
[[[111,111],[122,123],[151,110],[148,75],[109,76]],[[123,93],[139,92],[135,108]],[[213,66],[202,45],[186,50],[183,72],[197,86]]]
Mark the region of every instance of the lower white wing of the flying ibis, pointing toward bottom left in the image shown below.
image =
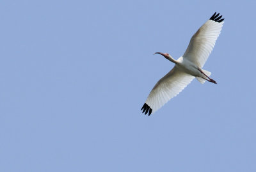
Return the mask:
[[[142,113],[148,116],[156,112],[171,98],[175,97],[194,79],[192,75],[182,72],[174,66],[168,74],[164,75],[154,86],[148,98],[141,108]]]

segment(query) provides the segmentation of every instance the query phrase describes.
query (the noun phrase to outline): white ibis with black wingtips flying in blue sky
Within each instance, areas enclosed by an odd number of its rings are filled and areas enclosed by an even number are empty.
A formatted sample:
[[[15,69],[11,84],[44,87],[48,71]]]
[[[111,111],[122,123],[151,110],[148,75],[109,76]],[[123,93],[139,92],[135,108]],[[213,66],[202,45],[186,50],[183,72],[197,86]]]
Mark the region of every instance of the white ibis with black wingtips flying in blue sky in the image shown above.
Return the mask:
[[[207,61],[215,42],[220,35],[222,26],[224,24],[222,15],[216,12],[205,22],[196,33],[192,36],[188,48],[183,56],[175,60],[168,53],[155,52],[164,58],[175,63],[175,66],[164,75],[150,91],[150,94],[143,104],[142,113],[155,113],[171,98],[177,96],[180,91],[184,90],[188,84],[197,79],[204,84],[205,81],[217,84],[216,81],[210,78],[211,72],[202,69],[205,61]]]

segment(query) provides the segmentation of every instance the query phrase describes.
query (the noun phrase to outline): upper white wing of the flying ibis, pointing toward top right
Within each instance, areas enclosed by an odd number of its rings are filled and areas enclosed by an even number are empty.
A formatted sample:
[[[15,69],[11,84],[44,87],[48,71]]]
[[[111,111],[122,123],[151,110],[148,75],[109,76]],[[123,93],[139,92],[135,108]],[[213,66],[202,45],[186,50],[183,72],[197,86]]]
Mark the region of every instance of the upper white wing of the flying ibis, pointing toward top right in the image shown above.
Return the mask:
[[[220,17],[219,15],[220,13],[216,15],[215,12],[214,15],[196,31],[183,55],[183,58],[189,59],[189,61],[195,63],[200,68],[204,66],[205,61],[207,61],[220,35],[224,19],[221,19],[222,15]]]

